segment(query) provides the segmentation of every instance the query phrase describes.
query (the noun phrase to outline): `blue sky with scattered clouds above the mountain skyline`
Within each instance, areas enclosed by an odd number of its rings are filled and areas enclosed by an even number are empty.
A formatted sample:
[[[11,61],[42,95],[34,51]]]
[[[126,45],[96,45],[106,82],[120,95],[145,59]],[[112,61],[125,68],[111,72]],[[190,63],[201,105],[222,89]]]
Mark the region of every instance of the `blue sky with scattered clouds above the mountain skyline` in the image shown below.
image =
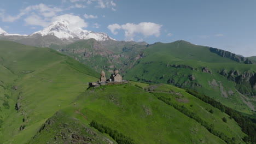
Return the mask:
[[[31,34],[68,14],[79,16],[77,26],[117,40],[152,44],[183,39],[256,56],[255,6],[253,0],[1,0],[0,27]]]

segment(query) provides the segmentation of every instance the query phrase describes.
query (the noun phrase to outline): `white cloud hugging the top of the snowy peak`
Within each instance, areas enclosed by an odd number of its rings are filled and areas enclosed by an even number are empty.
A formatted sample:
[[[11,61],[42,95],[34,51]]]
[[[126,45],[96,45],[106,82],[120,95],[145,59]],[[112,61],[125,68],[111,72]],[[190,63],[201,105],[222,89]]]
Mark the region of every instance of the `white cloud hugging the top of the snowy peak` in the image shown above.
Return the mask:
[[[88,27],[88,23],[84,21],[79,16],[71,15],[71,14],[65,14],[65,15],[60,15],[60,16],[55,16],[51,20],[51,22],[54,21],[61,21],[61,20],[66,20],[69,22],[69,26],[71,28],[83,28],[83,27]]]

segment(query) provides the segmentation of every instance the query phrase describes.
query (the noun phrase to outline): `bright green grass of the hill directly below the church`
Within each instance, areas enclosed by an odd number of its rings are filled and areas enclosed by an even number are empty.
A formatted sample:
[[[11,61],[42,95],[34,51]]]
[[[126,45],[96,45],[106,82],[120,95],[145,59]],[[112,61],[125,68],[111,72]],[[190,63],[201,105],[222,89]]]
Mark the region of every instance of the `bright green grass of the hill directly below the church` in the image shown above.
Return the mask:
[[[203,103],[183,89],[168,85],[161,88],[181,92],[189,103],[180,103],[175,100],[175,95],[169,93],[168,97],[196,112],[228,137],[236,137],[236,143],[243,143],[240,137],[245,134],[237,123],[232,119],[228,119],[227,123],[222,121],[221,118],[228,118],[228,115]],[[193,107],[189,106],[191,104]],[[214,112],[210,113],[206,109],[213,109]],[[90,88],[63,111],[85,125],[96,120],[130,136],[137,143],[225,143],[193,119],[133,84]],[[44,137],[43,135],[41,137]],[[49,138],[43,142],[46,141],[49,141]]]

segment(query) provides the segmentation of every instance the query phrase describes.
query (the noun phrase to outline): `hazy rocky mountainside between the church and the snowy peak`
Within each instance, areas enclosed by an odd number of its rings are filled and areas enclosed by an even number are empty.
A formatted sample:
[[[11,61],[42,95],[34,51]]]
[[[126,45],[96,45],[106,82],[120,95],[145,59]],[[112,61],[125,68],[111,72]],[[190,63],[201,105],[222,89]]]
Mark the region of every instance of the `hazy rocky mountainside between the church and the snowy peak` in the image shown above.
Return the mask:
[[[97,72],[104,70],[107,75],[117,67],[121,73],[132,68],[137,59],[143,57],[143,50],[146,44],[134,41],[95,39],[78,40],[68,45],[51,45],[56,51],[77,59]]]

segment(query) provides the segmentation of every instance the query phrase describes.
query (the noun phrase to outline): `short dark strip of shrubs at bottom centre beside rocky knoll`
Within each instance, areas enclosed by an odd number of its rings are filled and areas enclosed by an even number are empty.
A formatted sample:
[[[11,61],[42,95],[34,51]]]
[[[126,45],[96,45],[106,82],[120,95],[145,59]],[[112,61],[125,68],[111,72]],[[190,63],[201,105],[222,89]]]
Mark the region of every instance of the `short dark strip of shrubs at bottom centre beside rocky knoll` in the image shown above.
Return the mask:
[[[103,124],[99,124],[95,120],[91,121],[90,125],[91,127],[94,127],[95,129],[100,131],[102,134],[103,133],[108,134],[118,144],[135,144],[134,140],[132,140],[130,137],[127,137],[124,134],[119,133],[117,130],[113,130],[109,127],[106,127]]]

